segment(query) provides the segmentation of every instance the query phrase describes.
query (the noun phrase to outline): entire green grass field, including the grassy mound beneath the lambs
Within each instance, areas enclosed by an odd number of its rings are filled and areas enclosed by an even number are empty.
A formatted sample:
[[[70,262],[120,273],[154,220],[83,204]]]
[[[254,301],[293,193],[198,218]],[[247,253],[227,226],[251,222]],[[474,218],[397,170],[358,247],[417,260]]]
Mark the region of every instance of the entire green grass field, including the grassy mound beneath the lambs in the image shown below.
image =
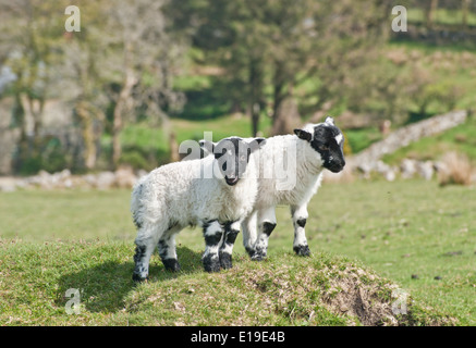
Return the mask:
[[[440,313],[438,318],[455,318],[460,325],[475,325],[475,198],[474,187],[440,188],[436,182],[325,184],[312,200],[306,225],[313,258],[292,254],[292,222],[288,208],[279,207],[268,261],[248,261],[239,237],[235,268],[206,274],[199,260],[202,233],[185,229],[178,239],[183,271],[164,272],[156,254],[150,282],[134,287],[129,190],[4,192],[0,323],[346,325],[353,321],[317,306],[308,290],[314,286],[324,291],[321,278],[329,276],[319,273],[324,266],[345,270],[357,264],[378,274],[379,288],[388,279],[412,296],[424,314],[407,324],[428,325],[429,313]],[[283,274],[298,288],[304,285],[293,274],[305,270],[321,281],[308,281],[304,293],[289,288],[293,295],[279,302],[276,294],[284,285],[274,277]],[[265,282],[268,290],[249,288],[249,278]],[[81,314],[65,314],[68,288],[83,290]],[[229,294],[240,291],[245,295],[232,303]],[[269,303],[253,304],[269,300],[276,311],[270,312]],[[243,314],[245,306],[253,311]],[[220,313],[241,313],[243,321]]]

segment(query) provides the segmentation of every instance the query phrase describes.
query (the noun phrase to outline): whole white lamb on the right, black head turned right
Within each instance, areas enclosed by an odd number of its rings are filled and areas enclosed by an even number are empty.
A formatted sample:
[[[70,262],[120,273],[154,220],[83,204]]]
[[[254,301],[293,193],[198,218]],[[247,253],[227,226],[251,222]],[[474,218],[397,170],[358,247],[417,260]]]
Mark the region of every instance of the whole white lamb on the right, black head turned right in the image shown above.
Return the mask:
[[[307,204],[321,184],[324,169],[338,173],[345,165],[344,137],[332,117],[328,116],[324,123],[308,124],[304,129],[294,129],[294,133],[268,138],[260,150],[259,195],[253,212],[242,223],[243,244],[252,260],[263,260],[267,254],[268,238],[277,225],[277,204],[291,208],[294,252],[310,254],[304,229],[308,217]],[[285,166],[283,161],[288,161],[284,179],[291,179],[288,183],[291,185],[282,185],[285,182],[277,177],[276,172],[274,177],[265,173],[272,164],[278,170]]]

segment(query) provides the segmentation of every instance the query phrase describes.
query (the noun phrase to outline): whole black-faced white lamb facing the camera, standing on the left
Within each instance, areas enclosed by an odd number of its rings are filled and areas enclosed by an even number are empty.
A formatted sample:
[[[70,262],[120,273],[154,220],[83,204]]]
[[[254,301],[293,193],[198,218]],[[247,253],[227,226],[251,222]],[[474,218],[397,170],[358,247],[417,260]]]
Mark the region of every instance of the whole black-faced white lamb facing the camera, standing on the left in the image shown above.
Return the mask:
[[[166,269],[180,270],[175,236],[185,226],[203,228],[207,272],[232,266],[240,224],[253,210],[257,192],[252,153],[264,144],[264,138],[239,137],[206,144],[213,156],[169,163],[139,179],[131,201],[137,227],[134,281],[147,279],[156,246]]]

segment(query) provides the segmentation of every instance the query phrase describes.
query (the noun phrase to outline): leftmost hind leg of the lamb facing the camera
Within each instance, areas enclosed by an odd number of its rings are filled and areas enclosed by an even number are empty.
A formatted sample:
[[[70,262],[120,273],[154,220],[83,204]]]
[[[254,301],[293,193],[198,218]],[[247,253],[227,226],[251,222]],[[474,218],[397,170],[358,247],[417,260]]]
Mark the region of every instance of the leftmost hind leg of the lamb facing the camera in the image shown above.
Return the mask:
[[[134,282],[144,282],[149,275],[149,261],[156,248],[157,240],[162,233],[157,233],[156,228],[141,227],[135,238],[135,268],[132,275]]]

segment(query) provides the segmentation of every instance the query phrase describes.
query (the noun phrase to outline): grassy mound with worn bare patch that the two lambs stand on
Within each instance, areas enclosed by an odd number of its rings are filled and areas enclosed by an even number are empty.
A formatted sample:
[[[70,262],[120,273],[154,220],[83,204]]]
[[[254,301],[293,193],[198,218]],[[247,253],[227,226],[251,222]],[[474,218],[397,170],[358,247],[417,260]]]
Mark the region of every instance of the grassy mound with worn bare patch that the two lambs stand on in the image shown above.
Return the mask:
[[[134,285],[133,246],[0,240],[3,325],[451,325],[399,287],[347,259],[280,252],[203,272],[200,251],[178,250],[179,273],[152,257]],[[78,289],[77,301],[69,289]],[[400,296],[400,297],[399,297]],[[396,306],[406,314],[392,310]],[[72,309],[68,314],[66,309]],[[71,313],[72,312],[72,313]]]

